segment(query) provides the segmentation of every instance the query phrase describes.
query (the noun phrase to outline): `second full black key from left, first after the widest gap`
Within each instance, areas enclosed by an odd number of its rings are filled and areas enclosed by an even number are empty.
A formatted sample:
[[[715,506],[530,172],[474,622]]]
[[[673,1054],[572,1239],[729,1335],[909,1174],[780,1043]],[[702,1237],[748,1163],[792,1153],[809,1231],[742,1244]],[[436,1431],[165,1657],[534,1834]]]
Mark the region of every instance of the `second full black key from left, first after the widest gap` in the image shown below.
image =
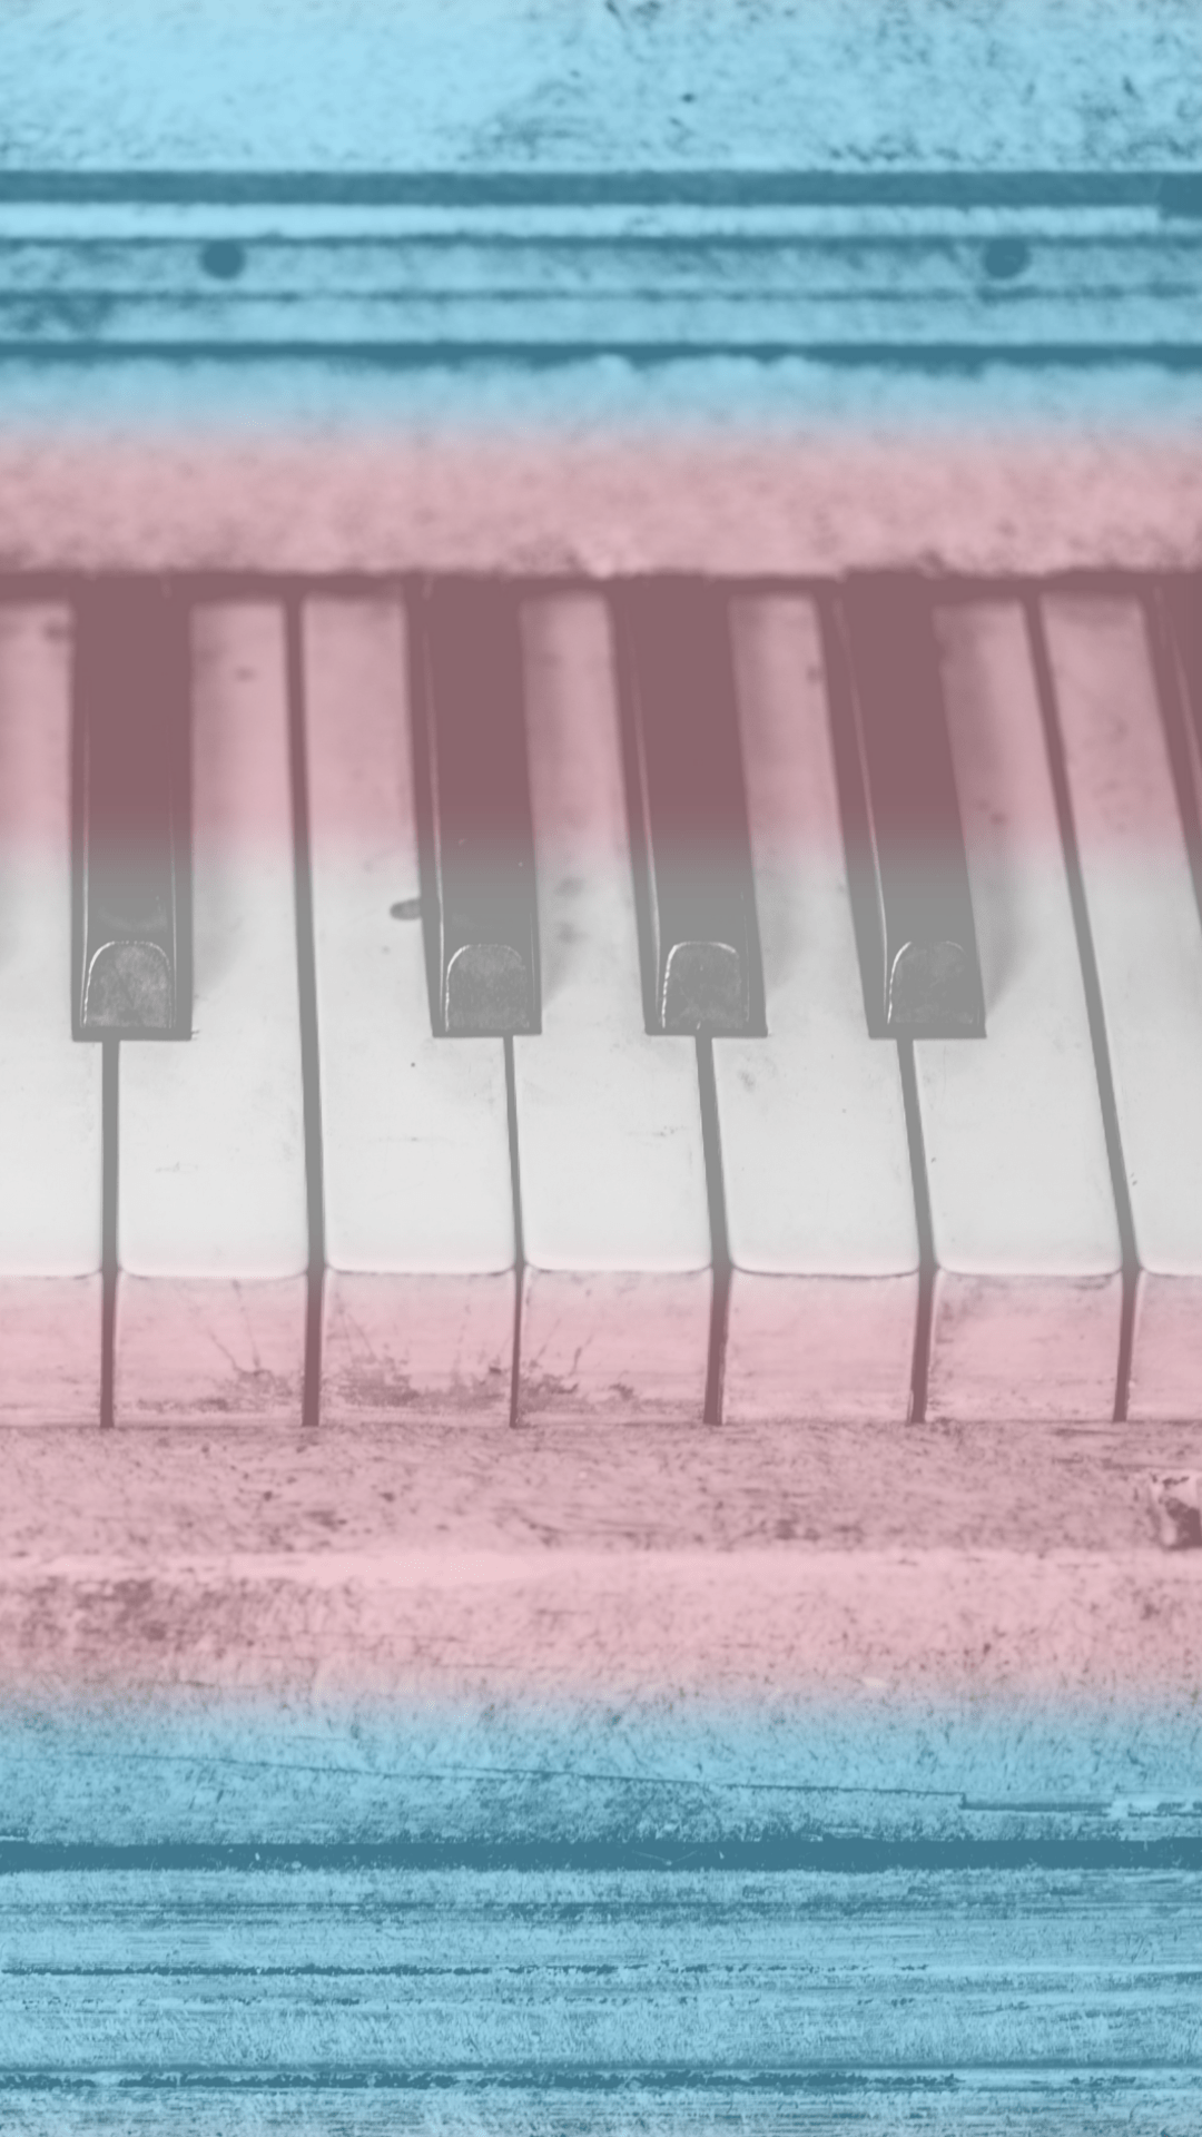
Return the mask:
[[[413,675],[428,761],[436,1021],[451,1036],[539,1028],[535,859],[515,596],[436,579]]]

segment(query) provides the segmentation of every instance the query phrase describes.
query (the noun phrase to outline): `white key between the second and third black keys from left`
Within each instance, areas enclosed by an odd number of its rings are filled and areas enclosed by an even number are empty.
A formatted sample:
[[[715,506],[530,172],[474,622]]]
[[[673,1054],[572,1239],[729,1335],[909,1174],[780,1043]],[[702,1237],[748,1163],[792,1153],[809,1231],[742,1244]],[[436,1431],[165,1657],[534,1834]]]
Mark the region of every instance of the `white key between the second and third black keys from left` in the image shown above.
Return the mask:
[[[697,1058],[644,1030],[605,609],[533,603],[524,643],[543,1030],[513,1041],[520,1413],[697,1419],[712,1289]]]

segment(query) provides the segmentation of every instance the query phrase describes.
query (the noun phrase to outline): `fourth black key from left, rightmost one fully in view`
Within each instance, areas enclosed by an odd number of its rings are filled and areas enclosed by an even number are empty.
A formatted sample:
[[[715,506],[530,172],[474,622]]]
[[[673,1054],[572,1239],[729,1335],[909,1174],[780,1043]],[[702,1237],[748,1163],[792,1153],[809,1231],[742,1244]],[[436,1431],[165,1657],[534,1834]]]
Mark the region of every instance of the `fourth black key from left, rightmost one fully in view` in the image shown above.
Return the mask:
[[[975,1039],[982,972],[930,596],[918,579],[851,579],[838,622],[832,671],[864,791],[853,868],[866,878],[868,1024],[879,1036]]]

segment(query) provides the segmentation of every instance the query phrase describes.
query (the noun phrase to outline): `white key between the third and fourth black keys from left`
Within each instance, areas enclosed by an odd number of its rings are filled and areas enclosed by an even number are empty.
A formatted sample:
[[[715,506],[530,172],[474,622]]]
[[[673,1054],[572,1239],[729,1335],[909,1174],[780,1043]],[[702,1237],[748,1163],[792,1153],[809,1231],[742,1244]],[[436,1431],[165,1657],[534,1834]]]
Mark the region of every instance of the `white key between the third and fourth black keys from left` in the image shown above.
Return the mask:
[[[815,609],[740,600],[734,645],[770,1036],[714,1041],[723,1415],[905,1419],[909,1143],[896,1047],[864,1019]]]

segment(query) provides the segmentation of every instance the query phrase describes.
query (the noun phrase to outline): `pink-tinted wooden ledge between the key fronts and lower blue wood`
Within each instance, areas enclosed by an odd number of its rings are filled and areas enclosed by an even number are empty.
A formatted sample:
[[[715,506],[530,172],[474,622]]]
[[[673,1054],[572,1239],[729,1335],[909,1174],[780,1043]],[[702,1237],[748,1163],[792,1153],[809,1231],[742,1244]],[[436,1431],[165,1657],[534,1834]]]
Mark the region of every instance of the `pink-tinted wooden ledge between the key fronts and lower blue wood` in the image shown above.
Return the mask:
[[[1146,1479],[1191,1440],[13,1430],[0,1665],[68,1697],[1176,1697],[1202,1675],[1202,1554],[1161,1547]]]

